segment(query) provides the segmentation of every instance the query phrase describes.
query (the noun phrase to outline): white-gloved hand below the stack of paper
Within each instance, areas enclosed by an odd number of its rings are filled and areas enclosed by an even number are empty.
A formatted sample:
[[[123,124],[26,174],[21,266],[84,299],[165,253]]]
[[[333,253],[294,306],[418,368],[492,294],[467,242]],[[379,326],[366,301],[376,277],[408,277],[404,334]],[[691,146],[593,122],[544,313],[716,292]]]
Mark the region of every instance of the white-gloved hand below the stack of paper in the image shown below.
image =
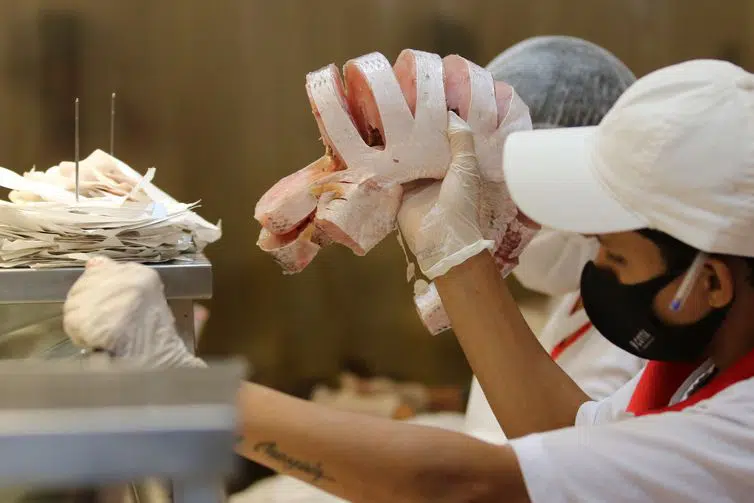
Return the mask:
[[[135,263],[91,260],[63,305],[74,344],[150,367],[203,367],[175,328],[158,274]]]

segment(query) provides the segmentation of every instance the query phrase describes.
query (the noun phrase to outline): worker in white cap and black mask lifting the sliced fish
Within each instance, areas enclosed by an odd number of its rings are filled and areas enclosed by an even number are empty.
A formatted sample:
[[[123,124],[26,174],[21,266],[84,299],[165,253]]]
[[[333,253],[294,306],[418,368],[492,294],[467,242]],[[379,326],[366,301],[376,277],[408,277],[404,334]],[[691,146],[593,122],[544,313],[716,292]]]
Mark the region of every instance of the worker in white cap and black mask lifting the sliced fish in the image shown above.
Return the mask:
[[[435,272],[510,442],[243,383],[238,451],[348,500],[750,501],[754,75],[716,60],[673,65],[635,82],[598,126],[506,140],[503,170],[520,210],[599,240],[580,283],[590,320],[651,360],[601,401],[542,348],[480,246],[473,135],[448,115],[448,173],[439,191],[406,194],[399,225],[422,271]],[[77,344],[145,366],[205,365],[178,336],[159,276],[141,265],[92,263],[64,323]]]

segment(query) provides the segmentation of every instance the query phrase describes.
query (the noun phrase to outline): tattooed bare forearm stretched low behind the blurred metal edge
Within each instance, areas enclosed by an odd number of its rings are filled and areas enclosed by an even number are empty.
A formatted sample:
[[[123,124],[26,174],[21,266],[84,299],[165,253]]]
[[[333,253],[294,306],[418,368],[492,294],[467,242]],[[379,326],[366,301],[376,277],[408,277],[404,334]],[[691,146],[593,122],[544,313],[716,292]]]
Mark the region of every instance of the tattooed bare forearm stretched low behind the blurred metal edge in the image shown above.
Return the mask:
[[[470,501],[474,491],[491,491],[483,480],[511,480],[511,495],[526,492],[512,452],[461,434],[333,410],[250,383],[240,403],[241,455],[349,501]]]

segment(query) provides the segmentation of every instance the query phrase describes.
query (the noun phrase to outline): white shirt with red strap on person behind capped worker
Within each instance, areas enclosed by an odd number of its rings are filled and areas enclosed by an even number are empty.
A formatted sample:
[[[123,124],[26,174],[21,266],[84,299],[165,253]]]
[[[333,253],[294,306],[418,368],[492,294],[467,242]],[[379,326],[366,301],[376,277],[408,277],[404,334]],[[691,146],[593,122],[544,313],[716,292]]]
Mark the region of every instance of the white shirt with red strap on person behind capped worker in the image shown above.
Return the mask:
[[[583,309],[572,313],[578,297],[579,293],[573,292],[556,303],[539,335],[540,342],[548,352],[588,323],[589,319]],[[618,348],[594,327],[590,327],[569,346],[557,359],[557,363],[595,400],[618,390],[644,367],[644,360]],[[465,431],[490,443],[501,444],[506,441],[476,377],[472,381],[466,407]]]

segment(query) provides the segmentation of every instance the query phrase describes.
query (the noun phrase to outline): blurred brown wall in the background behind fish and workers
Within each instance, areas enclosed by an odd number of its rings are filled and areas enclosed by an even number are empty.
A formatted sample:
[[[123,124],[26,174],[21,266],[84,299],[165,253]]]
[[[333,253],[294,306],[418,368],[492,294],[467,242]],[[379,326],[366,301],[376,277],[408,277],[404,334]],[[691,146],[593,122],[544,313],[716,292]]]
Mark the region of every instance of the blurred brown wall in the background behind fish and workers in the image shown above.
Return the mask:
[[[752,20],[749,0],[0,0],[0,164],[70,159],[74,96],[82,151],[106,148],[115,90],[116,154],[222,218],[205,354],[244,354],[283,389],[344,358],[461,383],[463,355],[424,333],[393,239],[361,259],[328,249],[294,277],[256,248],[257,198],[322,151],[305,73],[405,47],[486,64],[538,34],[590,39],[637,74],[694,57],[746,66]]]

